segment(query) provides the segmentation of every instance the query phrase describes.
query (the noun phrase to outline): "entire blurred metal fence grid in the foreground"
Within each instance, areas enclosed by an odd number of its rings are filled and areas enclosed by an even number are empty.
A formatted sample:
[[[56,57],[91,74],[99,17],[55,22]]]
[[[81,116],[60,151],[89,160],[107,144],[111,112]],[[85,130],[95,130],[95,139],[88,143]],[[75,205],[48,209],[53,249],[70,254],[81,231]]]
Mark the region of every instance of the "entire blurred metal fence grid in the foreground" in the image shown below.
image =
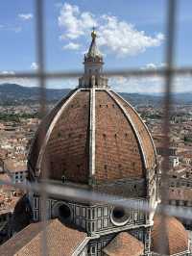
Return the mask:
[[[37,79],[40,88],[40,113],[43,116],[46,112],[46,82],[49,79],[61,79],[61,78],[77,78],[82,75],[80,71],[67,71],[67,72],[47,72],[45,69],[46,55],[45,55],[45,13],[44,13],[44,1],[35,1],[36,9],[36,59],[38,64],[38,69],[36,72],[20,72],[16,74],[0,74],[0,81],[7,78],[31,78]],[[104,72],[104,75],[108,77],[124,76],[124,77],[153,77],[160,76],[164,78],[164,118],[162,124],[162,130],[164,134],[163,147],[168,149],[170,147],[170,115],[172,111],[172,91],[173,91],[173,78],[176,75],[192,75],[192,66],[176,68],[174,65],[175,56],[175,41],[176,41],[176,19],[177,19],[177,0],[167,0],[167,21],[166,21],[166,47],[165,47],[165,63],[166,66],[159,68],[157,70],[141,70],[141,69],[119,69],[119,70],[108,70]],[[43,132],[42,132],[43,133]],[[43,137],[43,134],[41,135]],[[168,150],[166,150],[168,152]],[[46,170],[46,169],[45,169]],[[192,219],[192,211],[186,211],[183,207],[175,207],[168,205],[168,171],[169,171],[169,155],[168,153],[164,156],[164,160],[161,168],[161,206],[153,209],[146,204],[139,206],[142,211],[152,213],[157,212],[161,216],[162,228],[161,236],[159,240],[159,246],[161,248],[161,253],[164,254],[164,236],[163,230],[165,227],[164,217],[165,216],[175,216],[178,218],[189,218]],[[5,181],[0,181],[0,184],[7,184],[13,186],[14,188],[22,189],[27,192],[38,192],[42,198],[41,204],[41,220],[43,225],[43,255],[48,255],[48,248],[46,243],[46,200],[49,196],[55,196],[61,199],[83,199],[92,202],[105,202],[111,205],[121,205],[126,208],[138,209],[138,204],[136,200],[121,201],[121,197],[112,196],[109,194],[102,194],[99,192],[87,192],[84,189],[77,189],[67,186],[56,186],[46,183],[48,179],[47,171],[43,171],[43,181],[39,184],[12,184]],[[118,200],[117,200],[118,199]]]

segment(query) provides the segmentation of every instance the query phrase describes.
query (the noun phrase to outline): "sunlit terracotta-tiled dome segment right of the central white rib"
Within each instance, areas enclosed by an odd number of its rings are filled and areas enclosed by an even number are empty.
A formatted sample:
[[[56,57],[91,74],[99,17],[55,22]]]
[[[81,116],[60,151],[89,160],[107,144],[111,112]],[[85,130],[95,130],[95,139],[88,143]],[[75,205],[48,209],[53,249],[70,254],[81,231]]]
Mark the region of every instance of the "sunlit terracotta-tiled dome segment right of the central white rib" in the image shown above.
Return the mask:
[[[106,91],[96,92],[96,173],[98,181],[144,177],[132,126]]]

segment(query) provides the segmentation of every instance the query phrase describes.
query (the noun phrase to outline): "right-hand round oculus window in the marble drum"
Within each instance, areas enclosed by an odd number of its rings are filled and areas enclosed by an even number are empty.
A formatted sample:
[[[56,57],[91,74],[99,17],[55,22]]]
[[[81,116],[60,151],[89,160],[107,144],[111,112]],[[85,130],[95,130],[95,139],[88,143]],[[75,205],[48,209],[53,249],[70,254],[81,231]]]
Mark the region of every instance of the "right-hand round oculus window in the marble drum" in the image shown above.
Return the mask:
[[[120,206],[115,206],[110,214],[110,219],[115,226],[123,226],[128,223],[131,213]]]

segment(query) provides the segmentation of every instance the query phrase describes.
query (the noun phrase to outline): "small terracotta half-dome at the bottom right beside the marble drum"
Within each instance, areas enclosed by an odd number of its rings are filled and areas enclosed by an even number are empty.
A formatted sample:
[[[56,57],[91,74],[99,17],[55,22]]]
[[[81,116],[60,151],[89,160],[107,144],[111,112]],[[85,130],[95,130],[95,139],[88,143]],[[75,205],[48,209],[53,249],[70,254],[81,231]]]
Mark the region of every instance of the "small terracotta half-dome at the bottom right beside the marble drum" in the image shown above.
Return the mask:
[[[187,231],[177,218],[165,218],[165,230],[162,232],[161,218],[155,217],[152,230],[152,251],[160,253],[160,238],[163,235],[163,253],[178,254],[188,250]],[[162,232],[162,234],[161,234]]]

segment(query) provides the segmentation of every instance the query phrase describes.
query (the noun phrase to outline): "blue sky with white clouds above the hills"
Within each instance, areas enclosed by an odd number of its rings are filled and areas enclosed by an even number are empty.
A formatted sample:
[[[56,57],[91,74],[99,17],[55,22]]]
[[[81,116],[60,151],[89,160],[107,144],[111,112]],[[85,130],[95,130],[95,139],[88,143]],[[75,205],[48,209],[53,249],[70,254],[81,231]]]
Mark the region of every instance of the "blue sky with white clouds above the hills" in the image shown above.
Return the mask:
[[[45,0],[46,67],[82,69],[93,25],[105,68],[156,68],[165,64],[167,0]],[[179,1],[175,64],[192,64],[192,1]],[[36,71],[36,13],[34,0],[0,2],[0,72]],[[14,80],[15,81],[15,80]],[[14,82],[13,81],[13,82]],[[12,81],[11,81],[12,82]],[[22,79],[22,85],[35,81]],[[157,92],[162,81],[113,78],[111,87],[132,92]],[[68,88],[77,81],[52,81],[49,87]],[[192,90],[189,77],[176,79],[176,90]]]

